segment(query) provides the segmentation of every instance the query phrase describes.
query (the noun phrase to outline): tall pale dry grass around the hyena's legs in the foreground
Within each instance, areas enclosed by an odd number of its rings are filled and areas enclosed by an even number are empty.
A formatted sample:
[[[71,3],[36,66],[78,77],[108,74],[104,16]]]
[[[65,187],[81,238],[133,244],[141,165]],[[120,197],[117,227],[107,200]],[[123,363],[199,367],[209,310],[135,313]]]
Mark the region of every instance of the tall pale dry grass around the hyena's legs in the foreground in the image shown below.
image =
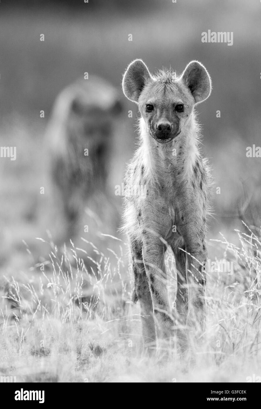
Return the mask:
[[[130,300],[126,248],[105,256],[50,240],[50,258],[24,276],[5,276],[0,301],[0,373],[38,382],[257,382],[261,375],[260,231],[237,231],[241,245],[212,243],[233,261],[231,275],[208,272],[207,324],[200,346],[181,357],[173,348],[140,353],[139,306]],[[42,239],[40,239],[42,240]],[[44,240],[42,240],[44,241]],[[88,243],[90,244],[90,243]],[[28,251],[30,251],[28,249]],[[97,261],[98,260],[98,261]],[[168,253],[170,299],[175,263]],[[198,342],[197,342],[198,345]]]

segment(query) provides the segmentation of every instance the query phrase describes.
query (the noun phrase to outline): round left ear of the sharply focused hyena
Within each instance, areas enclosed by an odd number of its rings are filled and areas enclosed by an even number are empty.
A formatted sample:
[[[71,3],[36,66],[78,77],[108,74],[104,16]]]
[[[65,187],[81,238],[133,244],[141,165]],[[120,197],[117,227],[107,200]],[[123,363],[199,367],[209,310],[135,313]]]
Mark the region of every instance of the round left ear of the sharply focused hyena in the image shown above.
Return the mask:
[[[152,79],[147,66],[142,60],[135,60],[128,66],[122,80],[125,97],[138,103],[138,99],[146,81]]]

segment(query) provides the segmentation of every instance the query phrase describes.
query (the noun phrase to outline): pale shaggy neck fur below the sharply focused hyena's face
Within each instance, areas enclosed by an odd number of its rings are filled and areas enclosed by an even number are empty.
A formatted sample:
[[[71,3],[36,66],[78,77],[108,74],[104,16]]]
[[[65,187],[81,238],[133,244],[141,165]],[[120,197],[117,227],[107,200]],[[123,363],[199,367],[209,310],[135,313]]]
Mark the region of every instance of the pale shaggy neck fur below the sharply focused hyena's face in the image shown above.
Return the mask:
[[[172,142],[161,144],[148,133],[143,118],[139,122],[142,164],[148,179],[159,184],[173,179],[189,179],[200,159],[199,125],[192,114],[187,126]]]

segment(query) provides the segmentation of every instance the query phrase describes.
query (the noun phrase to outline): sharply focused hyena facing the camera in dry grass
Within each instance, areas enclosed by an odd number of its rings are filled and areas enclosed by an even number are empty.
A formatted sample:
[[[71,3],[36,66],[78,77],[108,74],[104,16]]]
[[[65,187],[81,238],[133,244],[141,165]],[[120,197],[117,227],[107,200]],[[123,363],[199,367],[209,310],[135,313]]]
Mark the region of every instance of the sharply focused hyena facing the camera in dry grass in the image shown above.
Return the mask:
[[[203,328],[207,259],[206,218],[210,170],[199,151],[194,107],[211,92],[206,68],[191,61],[181,76],[171,70],[151,75],[142,60],[123,77],[125,96],[138,104],[139,147],[125,184],[146,186],[146,197],[124,199],[124,229],[130,240],[135,291],[141,305],[144,341],[172,337],[174,321],[166,288],[166,243],[177,267],[177,321]],[[156,326],[155,326],[156,324]]]

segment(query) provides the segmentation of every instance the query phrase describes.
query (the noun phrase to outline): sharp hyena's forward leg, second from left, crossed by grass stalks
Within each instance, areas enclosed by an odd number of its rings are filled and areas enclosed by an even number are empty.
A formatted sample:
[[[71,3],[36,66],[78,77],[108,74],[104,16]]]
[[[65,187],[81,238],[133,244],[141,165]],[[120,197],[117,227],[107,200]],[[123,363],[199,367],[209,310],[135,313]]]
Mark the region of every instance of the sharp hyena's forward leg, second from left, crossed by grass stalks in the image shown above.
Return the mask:
[[[170,339],[173,337],[174,323],[168,301],[163,243],[160,240],[145,242],[142,256],[153,303],[157,338]]]

